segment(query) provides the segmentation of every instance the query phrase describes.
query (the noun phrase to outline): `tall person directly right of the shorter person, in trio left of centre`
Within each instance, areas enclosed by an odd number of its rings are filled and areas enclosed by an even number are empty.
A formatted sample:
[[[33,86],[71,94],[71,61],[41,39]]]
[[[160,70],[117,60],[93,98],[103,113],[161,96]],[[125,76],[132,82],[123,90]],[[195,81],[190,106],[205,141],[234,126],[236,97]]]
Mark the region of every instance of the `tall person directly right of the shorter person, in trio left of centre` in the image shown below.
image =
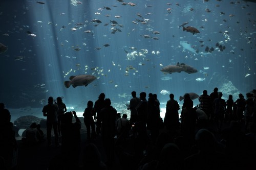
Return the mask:
[[[100,113],[100,110],[104,107],[104,102],[105,102],[105,94],[100,93],[99,94],[99,99],[94,103],[94,109],[97,113],[96,116],[96,135],[98,136],[100,133],[100,128],[101,128],[101,122],[102,122],[102,115]]]

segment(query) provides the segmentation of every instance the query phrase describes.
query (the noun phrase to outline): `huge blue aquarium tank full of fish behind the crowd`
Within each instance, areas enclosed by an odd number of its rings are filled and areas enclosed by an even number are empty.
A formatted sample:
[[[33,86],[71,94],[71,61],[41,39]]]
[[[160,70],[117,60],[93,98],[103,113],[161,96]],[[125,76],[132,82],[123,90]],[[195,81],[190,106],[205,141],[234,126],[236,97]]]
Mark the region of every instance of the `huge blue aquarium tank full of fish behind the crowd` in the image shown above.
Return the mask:
[[[118,112],[144,91],[227,100],[256,87],[256,4],[222,0],[0,2],[0,102],[12,122],[49,96],[82,114],[100,93]],[[199,104],[198,99],[194,105]],[[161,114],[161,116],[162,116]]]

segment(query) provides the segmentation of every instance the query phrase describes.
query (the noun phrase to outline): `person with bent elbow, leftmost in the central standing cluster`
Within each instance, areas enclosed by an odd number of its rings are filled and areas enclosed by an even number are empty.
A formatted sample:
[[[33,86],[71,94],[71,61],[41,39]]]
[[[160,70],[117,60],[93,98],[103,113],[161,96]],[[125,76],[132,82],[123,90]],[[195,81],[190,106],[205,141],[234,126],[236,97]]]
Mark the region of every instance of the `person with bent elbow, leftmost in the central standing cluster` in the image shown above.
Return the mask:
[[[140,103],[140,98],[136,97],[136,91],[132,92],[132,96],[133,96],[133,98],[130,100],[130,105],[127,108],[127,110],[131,110],[130,122],[133,124],[133,123],[137,122],[137,119],[138,119],[138,113],[136,110],[136,106]]]

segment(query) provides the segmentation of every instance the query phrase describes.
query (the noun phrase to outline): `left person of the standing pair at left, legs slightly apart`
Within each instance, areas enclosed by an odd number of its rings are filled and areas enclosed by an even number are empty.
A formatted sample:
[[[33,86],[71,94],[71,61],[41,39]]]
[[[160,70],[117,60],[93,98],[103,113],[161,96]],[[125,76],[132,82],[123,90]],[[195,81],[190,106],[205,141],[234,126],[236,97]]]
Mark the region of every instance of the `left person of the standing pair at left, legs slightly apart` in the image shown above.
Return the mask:
[[[42,113],[44,116],[47,116],[46,118],[46,127],[47,127],[47,141],[48,146],[52,146],[51,136],[52,136],[52,127],[54,130],[54,139],[55,139],[55,146],[59,146],[58,141],[58,118],[57,118],[57,112],[59,111],[58,105],[53,104],[53,97],[50,96],[48,98],[48,105],[44,106],[42,109]]]

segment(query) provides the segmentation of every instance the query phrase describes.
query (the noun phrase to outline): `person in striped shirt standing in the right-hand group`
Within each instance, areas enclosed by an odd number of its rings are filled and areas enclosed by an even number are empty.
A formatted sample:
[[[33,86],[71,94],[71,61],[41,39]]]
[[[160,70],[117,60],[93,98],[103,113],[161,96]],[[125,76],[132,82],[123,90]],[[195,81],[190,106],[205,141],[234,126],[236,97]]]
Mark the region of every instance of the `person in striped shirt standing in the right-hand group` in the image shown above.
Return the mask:
[[[205,114],[210,118],[210,113],[212,112],[211,98],[207,94],[207,90],[203,91],[203,94],[198,98],[200,102],[200,109],[205,112]]]

